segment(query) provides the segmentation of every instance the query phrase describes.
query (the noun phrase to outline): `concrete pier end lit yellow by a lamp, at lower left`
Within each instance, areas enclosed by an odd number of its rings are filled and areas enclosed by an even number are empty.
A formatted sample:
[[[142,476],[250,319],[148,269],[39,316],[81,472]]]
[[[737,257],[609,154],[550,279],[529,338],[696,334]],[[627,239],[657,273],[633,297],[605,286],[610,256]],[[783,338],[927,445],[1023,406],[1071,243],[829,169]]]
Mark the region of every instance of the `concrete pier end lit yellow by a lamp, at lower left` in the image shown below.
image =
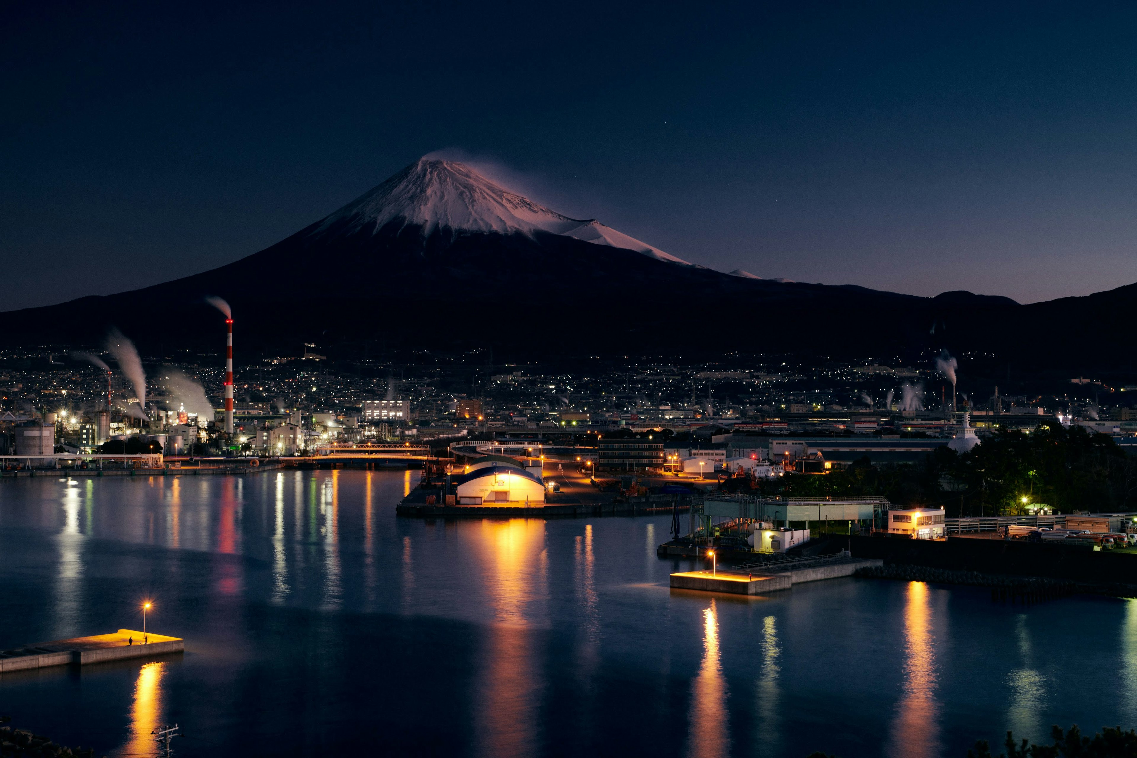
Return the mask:
[[[143,642],[144,640],[146,642]],[[185,641],[181,638],[155,634],[153,632],[143,634],[136,630],[118,630],[114,634],[38,642],[22,648],[0,650],[0,673],[66,664],[82,666],[106,660],[183,652],[184,650]]]

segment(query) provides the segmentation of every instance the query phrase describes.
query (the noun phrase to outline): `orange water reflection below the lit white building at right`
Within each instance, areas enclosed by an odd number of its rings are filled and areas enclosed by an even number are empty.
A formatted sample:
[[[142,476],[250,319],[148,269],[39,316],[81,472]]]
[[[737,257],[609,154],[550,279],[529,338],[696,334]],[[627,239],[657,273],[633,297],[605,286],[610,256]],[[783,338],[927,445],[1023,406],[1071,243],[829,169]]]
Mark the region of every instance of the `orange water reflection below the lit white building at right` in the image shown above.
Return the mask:
[[[904,608],[904,697],[893,720],[890,755],[926,758],[939,752],[937,665],[928,585],[910,582]]]

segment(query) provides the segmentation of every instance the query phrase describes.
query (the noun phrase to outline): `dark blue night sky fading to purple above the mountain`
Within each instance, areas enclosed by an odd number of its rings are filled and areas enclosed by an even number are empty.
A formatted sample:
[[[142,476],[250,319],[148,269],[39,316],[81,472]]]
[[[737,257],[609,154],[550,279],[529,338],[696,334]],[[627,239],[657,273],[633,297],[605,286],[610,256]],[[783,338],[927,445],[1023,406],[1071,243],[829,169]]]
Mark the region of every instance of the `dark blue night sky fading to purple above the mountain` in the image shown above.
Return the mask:
[[[1132,3],[26,5],[0,310],[235,260],[440,149],[722,270],[1137,281]]]

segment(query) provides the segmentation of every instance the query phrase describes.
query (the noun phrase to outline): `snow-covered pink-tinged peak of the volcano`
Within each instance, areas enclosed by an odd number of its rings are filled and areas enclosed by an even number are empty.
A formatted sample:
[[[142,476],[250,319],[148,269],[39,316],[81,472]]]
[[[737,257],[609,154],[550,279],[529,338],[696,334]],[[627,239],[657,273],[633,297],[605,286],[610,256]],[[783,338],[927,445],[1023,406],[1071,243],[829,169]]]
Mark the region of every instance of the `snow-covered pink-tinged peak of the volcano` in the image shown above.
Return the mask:
[[[540,231],[690,265],[598,220],[558,214],[495,184],[464,164],[429,158],[421,158],[327,216],[313,234],[333,227],[374,234],[390,224],[400,228],[418,226],[424,235],[451,230],[533,236]]]

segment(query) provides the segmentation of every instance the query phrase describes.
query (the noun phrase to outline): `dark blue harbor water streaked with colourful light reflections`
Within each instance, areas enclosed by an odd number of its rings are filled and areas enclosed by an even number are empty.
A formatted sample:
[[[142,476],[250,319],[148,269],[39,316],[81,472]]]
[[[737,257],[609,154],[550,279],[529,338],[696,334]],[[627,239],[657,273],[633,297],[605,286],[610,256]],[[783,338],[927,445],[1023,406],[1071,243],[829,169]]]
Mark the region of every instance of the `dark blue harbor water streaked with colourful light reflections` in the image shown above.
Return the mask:
[[[0,675],[98,755],[962,758],[1137,726],[1137,601],[841,578],[671,590],[670,514],[421,520],[417,472],[0,482],[0,649],[148,627],[185,653]]]

